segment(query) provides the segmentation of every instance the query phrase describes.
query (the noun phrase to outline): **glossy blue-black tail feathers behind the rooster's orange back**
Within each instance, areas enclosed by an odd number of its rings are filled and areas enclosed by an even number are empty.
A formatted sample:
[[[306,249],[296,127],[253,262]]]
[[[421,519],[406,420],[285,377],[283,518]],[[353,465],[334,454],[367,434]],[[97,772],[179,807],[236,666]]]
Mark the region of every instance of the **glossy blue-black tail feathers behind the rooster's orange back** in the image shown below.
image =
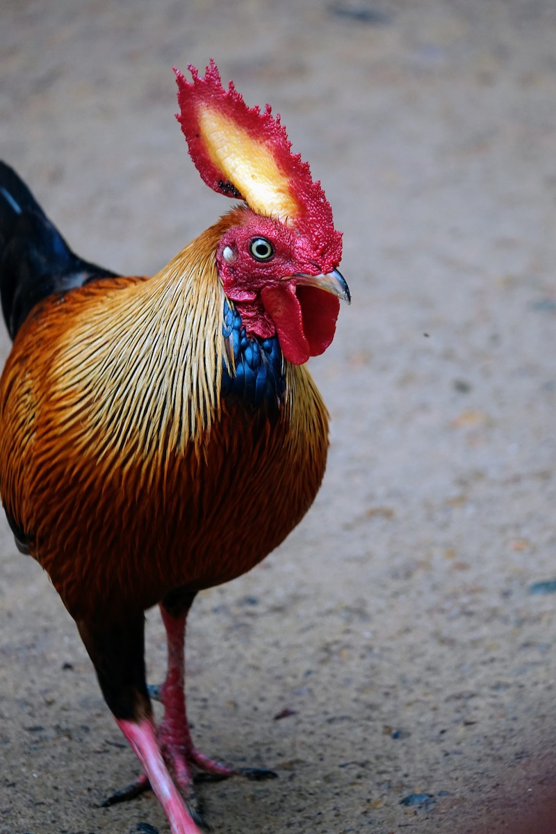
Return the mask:
[[[114,276],[73,254],[18,174],[0,162],[0,297],[12,339],[48,295]]]

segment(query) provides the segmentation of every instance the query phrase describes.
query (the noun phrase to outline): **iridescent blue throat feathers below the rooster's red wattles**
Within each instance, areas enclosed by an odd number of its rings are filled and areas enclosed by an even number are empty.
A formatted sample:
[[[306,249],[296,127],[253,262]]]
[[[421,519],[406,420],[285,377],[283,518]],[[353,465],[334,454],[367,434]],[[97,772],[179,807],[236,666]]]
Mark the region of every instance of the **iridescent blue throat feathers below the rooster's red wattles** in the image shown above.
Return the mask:
[[[264,403],[278,408],[286,387],[278,336],[250,339],[240,314],[226,299],[222,332],[232,349],[235,365],[234,373],[223,363],[223,396],[235,396],[253,406]]]

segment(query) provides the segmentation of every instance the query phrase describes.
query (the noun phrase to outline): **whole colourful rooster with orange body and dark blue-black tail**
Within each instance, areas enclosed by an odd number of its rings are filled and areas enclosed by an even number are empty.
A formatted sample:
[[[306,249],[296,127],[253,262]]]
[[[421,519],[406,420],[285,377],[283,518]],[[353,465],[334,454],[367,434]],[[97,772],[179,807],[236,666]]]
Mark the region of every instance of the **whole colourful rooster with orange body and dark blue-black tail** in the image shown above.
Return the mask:
[[[323,478],[328,420],[305,363],[332,342],[341,235],[270,107],[211,62],[177,73],[178,120],[204,182],[237,204],[153,278],[79,259],[7,165],[0,289],[13,349],[0,381],[0,493],[17,545],[78,625],[108,707],[173,834],[198,831],[184,632],[199,590],[250,570]],[[144,611],[168,674],[156,727]],[[257,776],[257,773],[251,774]],[[264,771],[263,771],[264,775]]]

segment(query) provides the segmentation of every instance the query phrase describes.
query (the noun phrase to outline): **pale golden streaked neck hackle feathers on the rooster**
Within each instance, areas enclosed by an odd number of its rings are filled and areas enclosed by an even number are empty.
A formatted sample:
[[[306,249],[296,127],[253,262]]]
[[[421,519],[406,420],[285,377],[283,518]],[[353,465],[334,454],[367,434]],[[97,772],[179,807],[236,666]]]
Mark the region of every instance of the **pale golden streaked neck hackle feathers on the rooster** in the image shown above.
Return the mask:
[[[152,279],[88,294],[53,366],[65,430],[76,430],[85,454],[101,460],[133,449],[148,459],[161,447],[166,457],[203,445],[220,409],[224,352],[215,252],[240,210]]]

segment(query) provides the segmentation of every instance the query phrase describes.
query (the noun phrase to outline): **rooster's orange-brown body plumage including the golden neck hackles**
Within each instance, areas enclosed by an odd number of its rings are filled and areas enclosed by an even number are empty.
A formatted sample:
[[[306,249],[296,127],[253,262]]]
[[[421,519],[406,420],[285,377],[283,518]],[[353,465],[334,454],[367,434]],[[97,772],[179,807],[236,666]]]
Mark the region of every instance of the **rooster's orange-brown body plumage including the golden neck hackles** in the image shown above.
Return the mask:
[[[317,493],[328,420],[307,369],[286,364],[276,413],[218,393],[214,250],[241,210],[152,279],[93,281],[38,304],[14,342],[0,491],[76,620],[233,579]]]

